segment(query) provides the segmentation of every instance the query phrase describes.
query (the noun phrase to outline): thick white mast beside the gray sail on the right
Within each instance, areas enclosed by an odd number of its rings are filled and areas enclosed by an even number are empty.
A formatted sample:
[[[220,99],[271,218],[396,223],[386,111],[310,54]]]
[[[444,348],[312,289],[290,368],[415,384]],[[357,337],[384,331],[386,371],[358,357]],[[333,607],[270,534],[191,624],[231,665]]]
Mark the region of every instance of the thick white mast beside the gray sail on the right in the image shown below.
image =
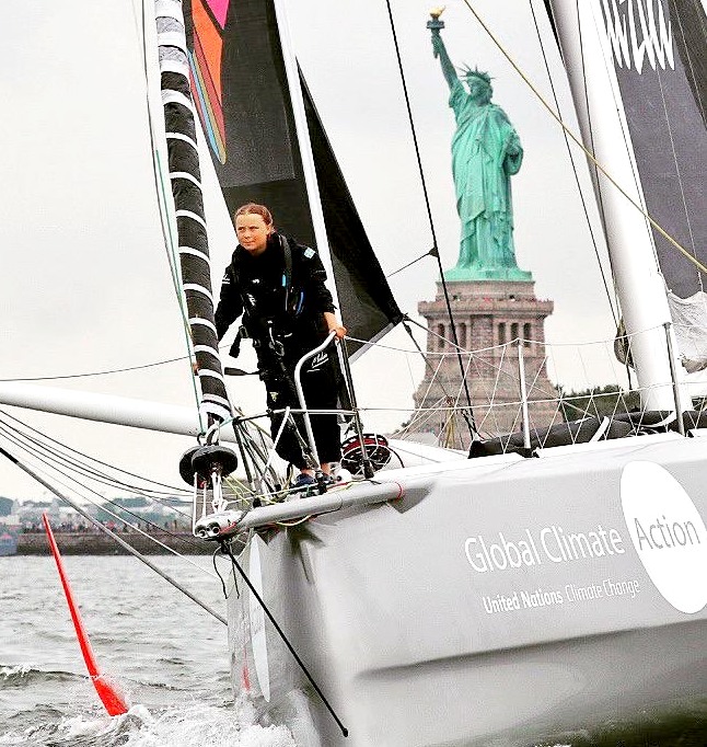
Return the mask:
[[[549,2],[584,142],[647,211],[600,0]],[[648,410],[675,410],[664,326],[671,315],[650,223],[601,172],[591,164],[590,170],[641,402]]]

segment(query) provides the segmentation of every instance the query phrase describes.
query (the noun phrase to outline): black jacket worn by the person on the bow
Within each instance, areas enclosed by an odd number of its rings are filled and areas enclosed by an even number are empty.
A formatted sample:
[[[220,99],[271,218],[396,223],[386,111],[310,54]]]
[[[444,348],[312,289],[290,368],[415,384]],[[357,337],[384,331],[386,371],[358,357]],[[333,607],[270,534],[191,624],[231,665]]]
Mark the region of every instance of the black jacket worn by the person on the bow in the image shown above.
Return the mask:
[[[265,323],[270,322],[278,333],[293,333],[309,344],[326,332],[323,313],[334,311],[325,280],[318,254],[292,239],[283,241],[280,234],[273,233],[266,250],[255,257],[239,244],[221,281],[216,309],[219,340],[243,314],[248,336],[255,340],[263,336]]]

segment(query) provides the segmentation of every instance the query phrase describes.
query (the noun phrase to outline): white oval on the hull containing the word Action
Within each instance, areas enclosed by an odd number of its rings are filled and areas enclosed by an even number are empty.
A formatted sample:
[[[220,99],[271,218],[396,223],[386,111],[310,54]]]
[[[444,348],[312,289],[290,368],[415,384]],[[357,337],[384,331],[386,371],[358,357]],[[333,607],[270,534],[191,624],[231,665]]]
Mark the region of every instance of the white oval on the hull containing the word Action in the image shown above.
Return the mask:
[[[675,609],[707,605],[707,529],[684,487],[660,464],[630,462],[621,478],[624,518],[656,588]]]

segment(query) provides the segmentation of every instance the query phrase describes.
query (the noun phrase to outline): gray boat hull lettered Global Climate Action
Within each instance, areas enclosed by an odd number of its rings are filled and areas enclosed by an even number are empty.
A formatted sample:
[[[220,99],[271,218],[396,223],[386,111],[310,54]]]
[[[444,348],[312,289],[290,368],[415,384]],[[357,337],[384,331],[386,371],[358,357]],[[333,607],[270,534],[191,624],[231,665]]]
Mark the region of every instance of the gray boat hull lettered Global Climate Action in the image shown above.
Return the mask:
[[[391,471],[398,501],[254,535],[241,561],[350,735],[241,579],[236,691],[298,745],[356,747],[529,745],[696,706],[706,448],[641,437]]]

